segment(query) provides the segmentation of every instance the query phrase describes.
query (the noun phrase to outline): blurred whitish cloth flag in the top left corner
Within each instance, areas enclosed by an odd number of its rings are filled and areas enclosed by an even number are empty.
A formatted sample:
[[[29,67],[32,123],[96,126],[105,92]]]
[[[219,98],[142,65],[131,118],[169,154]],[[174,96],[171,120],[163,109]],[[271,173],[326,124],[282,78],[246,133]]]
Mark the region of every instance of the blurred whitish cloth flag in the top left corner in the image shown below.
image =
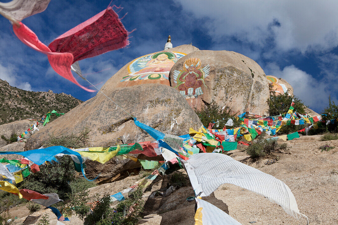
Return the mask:
[[[50,0],[12,0],[0,2],[0,14],[18,22],[46,10]]]

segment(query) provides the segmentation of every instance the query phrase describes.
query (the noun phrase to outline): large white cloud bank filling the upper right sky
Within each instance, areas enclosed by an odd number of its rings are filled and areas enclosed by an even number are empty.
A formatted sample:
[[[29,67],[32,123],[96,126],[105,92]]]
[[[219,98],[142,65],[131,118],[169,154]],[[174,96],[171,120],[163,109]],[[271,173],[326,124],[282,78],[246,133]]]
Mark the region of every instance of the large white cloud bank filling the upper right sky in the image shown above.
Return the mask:
[[[175,1],[197,18],[212,19],[207,31],[218,41],[225,35],[263,47],[273,37],[277,49],[303,53],[338,45],[338,1]]]

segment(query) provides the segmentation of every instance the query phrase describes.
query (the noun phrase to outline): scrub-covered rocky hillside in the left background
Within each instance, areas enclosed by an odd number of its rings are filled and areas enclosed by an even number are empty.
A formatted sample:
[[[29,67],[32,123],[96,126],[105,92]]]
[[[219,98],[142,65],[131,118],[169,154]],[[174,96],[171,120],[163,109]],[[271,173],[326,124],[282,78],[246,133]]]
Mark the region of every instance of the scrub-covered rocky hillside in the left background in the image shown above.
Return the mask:
[[[25,91],[0,79],[0,125],[27,118],[40,119],[53,109],[67,113],[80,103],[81,100],[65,93]]]

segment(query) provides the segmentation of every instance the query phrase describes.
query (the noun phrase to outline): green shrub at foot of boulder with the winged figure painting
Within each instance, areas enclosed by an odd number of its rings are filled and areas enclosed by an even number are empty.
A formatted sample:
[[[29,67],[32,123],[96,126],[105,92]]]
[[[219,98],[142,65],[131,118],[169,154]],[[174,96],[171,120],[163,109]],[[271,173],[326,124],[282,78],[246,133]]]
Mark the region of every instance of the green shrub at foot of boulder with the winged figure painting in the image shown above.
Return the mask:
[[[213,127],[214,129],[223,129],[228,118],[231,118],[234,121],[234,125],[226,126],[227,129],[235,128],[240,125],[240,121],[235,118],[237,115],[232,114],[229,108],[222,110],[214,100],[210,104],[206,104],[201,110],[195,108],[195,112],[205,127],[208,127],[209,123],[212,122],[216,123]]]

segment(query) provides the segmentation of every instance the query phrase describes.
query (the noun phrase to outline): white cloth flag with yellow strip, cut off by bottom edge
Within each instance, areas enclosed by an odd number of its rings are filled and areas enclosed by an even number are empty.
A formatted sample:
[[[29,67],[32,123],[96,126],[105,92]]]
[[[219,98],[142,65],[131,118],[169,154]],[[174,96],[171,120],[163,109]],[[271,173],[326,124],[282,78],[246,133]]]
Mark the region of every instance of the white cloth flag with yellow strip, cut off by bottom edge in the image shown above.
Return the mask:
[[[199,198],[195,198],[197,210],[195,213],[195,225],[219,225],[220,221],[226,225],[241,225],[234,218],[213,204]]]

